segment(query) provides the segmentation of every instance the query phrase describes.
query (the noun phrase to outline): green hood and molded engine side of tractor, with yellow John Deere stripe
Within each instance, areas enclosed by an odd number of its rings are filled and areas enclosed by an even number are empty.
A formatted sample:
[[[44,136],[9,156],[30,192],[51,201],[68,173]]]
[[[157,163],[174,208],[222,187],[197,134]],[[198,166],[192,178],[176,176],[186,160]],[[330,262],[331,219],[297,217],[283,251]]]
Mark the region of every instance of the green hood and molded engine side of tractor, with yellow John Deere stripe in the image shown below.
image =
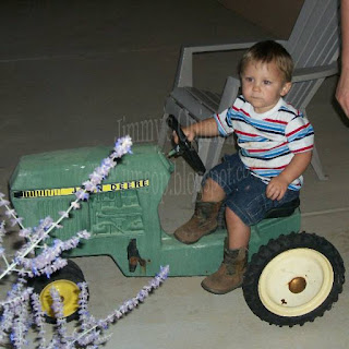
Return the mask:
[[[109,147],[98,146],[23,156],[10,179],[10,197],[23,225],[36,227],[47,216],[57,220],[109,154]],[[92,238],[69,255],[108,254],[128,274],[131,239],[143,251],[151,251],[159,240],[158,204],[172,171],[172,163],[156,145],[134,145],[132,154],[118,159],[97,192],[72,210],[72,219],[64,219],[51,238],[67,240],[86,229]]]

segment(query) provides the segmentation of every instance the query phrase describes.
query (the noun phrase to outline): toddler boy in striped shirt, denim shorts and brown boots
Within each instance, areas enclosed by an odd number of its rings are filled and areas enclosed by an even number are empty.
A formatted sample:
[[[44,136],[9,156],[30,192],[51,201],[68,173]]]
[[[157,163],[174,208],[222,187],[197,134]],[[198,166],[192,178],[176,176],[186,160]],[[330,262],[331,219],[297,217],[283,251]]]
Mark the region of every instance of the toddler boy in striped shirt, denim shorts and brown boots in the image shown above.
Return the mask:
[[[174,231],[183,243],[198,241],[217,228],[225,201],[228,239],[219,269],[202,282],[209,292],[227,293],[241,286],[250,227],[272,208],[299,196],[314,131],[306,118],[282,99],[291,88],[292,71],[292,59],[281,45],[257,43],[241,60],[242,95],[233,106],[183,129],[189,141],[234,133],[240,148],[207,173],[193,217]]]

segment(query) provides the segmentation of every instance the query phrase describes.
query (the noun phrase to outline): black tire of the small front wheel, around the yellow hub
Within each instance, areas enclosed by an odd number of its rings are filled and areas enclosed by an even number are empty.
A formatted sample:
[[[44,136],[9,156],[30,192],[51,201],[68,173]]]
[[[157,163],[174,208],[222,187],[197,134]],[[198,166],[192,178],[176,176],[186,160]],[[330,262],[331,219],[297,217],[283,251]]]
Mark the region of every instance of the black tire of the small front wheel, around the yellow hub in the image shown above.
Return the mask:
[[[68,260],[68,264],[61,268],[60,270],[57,270],[53,273],[50,278],[47,278],[46,276],[40,276],[33,278],[31,280],[31,286],[34,288],[34,292],[39,294],[41,297],[41,292],[47,292],[47,289],[45,288],[47,286],[53,285],[55,281],[64,281],[69,282],[70,285],[75,285],[75,288],[77,289],[79,282],[84,282],[84,274],[81,270],[81,268],[77,266],[76,263],[74,263],[71,260]],[[73,286],[74,287],[74,286]],[[79,294],[74,296],[74,299],[76,299]],[[45,309],[45,305],[41,303],[41,306]],[[79,317],[79,309],[76,311],[73,311],[72,313],[69,313],[69,315],[65,317],[67,322],[76,320]],[[46,322],[50,324],[56,323],[56,317],[50,315],[45,315]]]

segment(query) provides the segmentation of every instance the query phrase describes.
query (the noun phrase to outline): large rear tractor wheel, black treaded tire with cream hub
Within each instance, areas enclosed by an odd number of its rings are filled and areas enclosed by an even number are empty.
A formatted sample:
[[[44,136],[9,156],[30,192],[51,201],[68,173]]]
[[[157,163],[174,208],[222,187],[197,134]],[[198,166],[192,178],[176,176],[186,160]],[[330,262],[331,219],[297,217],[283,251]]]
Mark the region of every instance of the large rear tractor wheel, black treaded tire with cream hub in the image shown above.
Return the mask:
[[[326,239],[305,232],[280,236],[254,254],[244,275],[244,299],[261,320],[303,325],[338,300],[345,266]]]

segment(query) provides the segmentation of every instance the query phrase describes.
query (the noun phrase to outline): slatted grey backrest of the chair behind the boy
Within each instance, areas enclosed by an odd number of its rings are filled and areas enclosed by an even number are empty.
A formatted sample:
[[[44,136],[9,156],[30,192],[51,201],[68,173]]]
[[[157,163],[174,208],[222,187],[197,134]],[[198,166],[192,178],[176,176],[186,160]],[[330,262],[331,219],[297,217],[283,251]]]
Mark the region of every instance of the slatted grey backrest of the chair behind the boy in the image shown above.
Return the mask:
[[[305,0],[285,46],[296,68],[329,64],[339,55],[339,1]],[[306,107],[323,81],[297,83],[286,99],[296,108]]]

